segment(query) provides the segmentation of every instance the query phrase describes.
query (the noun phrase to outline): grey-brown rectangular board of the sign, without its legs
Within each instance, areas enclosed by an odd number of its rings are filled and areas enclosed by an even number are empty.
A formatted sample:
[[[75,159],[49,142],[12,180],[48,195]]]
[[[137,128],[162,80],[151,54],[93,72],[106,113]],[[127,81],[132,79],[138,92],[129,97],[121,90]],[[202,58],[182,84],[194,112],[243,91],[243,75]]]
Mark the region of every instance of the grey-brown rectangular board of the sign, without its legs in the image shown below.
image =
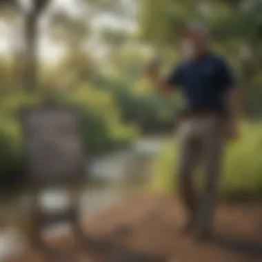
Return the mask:
[[[30,108],[22,116],[30,178],[41,183],[77,179],[84,165],[77,110]]]

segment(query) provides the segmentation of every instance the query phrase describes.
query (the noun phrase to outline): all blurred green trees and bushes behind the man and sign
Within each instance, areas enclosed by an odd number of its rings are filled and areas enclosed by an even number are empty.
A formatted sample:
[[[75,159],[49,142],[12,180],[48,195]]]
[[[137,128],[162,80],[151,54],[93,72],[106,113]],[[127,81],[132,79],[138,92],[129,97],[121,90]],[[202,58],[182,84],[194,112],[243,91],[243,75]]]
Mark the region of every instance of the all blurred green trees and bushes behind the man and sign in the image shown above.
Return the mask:
[[[34,3],[34,4],[32,4]],[[262,3],[259,0],[1,0],[0,185],[25,181],[19,110],[44,99],[77,105],[88,156],[128,148],[139,137],[169,137],[181,97],[160,97],[143,75],[163,57],[180,59],[179,32],[200,20],[243,92],[243,137],[228,147],[223,192],[262,193]],[[154,159],[150,188],[174,184],[173,145]]]

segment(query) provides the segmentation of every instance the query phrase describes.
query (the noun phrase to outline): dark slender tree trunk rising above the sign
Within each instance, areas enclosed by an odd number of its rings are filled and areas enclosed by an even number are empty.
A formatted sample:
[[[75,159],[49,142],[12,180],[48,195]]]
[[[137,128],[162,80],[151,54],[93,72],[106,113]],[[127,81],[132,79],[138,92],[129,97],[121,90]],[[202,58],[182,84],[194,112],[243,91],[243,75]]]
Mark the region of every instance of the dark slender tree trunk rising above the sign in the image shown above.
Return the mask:
[[[35,12],[30,12],[26,17],[26,71],[24,88],[28,92],[37,89],[37,21]]]

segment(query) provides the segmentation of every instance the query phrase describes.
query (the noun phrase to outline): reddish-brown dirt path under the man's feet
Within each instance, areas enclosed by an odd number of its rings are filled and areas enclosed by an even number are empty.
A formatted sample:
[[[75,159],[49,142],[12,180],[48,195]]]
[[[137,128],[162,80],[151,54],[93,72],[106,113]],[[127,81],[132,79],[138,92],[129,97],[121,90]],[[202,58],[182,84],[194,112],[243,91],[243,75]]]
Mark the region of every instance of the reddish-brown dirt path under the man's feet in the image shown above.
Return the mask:
[[[216,238],[210,243],[196,243],[194,238],[180,234],[184,217],[178,201],[170,196],[138,196],[84,221],[86,232],[97,239],[95,247],[90,248],[89,243],[80,248],[72,236],[49,241],[66,254],[57,262],[73,257],[69,262],[262,261],[262,204],[220,205],[216,218]],[[121,248],[123,245],[128,249]],[[31,261],[47,260],[39,252],[28,250],[12,262]]]

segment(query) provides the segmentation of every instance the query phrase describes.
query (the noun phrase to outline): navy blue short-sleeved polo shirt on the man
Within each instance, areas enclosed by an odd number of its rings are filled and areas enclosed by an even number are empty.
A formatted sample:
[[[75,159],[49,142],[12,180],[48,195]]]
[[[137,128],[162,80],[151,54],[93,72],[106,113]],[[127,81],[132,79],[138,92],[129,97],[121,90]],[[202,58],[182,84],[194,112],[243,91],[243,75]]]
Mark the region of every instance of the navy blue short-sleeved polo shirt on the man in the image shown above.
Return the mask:
[[[234,86],[228,63],[215,54],[183,61],[168,76],[168,85],[181,87],[186,110],[226,112],[225,96]]]

